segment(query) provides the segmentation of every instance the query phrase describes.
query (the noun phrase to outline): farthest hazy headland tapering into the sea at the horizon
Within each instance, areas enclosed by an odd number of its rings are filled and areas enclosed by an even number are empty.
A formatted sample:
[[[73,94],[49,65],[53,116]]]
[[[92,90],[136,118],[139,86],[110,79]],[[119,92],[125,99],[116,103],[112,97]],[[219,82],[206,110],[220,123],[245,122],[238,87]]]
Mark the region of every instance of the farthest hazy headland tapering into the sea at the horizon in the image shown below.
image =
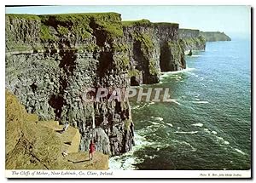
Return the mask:
[[[201,31],[201,35],[206,38],[207,42],[231,41],[230,37],[220,31]]]

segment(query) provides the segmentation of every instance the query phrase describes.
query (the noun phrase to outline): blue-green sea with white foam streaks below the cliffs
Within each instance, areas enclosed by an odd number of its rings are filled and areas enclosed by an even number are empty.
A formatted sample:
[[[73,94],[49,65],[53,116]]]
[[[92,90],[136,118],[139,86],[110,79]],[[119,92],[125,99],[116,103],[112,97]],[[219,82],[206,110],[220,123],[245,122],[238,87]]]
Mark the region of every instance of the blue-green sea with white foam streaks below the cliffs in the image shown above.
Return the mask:
[[[251,58],[248,40],[207,43],[188,69],[159,84],[176,102],[132,102],[137,145],[111,169],[250,169]]]

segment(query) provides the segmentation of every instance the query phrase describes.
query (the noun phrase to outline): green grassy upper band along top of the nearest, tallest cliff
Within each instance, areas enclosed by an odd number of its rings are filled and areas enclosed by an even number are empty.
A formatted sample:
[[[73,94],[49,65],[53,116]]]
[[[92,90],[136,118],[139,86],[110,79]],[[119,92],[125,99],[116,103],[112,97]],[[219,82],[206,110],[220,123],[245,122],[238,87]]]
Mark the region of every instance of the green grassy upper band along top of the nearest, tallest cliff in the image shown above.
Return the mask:
[[[15,40],[16,37],[12,36],[13,29],[10,29],[8,25],[13,24],[18,31],[20,30],[20,24],[23,24],[22,21],[26,21],[25,26],[28,28],[34,28],[32,29],[32,36],[40,37],[43,42],[57,42],[60,37],[69,37],[70,35],[81,37],[84,40],[92,35],[98,35],[99,31],[102,31],[102,34],[109,39],[123,36],[121,15],[113,12],[41,15],[6,14],[7,34],[11,39]],[[36,21],[37,24],[32,26],[33,23],[30,21]],[[56,35],[55,32],[58,34]],[[23,36],[19,35],[19,37]],[[32,43],[31,40],[28,42]]]

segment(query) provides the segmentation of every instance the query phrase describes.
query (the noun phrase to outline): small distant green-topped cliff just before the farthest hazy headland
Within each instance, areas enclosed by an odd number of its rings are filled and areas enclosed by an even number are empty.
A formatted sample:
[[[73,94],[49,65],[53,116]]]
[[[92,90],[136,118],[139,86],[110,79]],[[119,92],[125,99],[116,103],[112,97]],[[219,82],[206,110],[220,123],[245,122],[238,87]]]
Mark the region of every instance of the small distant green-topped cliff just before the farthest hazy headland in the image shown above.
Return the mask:
[[[193,29],[179,29],[178,35],[186,54],[189,50],[206,49],[206,39],[201,35],[201,31]]]

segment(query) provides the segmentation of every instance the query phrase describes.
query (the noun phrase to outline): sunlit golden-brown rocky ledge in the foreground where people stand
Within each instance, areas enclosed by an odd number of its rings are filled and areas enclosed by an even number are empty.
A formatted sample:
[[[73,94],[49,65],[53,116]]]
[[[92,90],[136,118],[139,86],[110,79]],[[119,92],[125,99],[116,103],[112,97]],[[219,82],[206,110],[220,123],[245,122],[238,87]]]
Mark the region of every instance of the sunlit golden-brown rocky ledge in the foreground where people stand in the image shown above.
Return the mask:
[[[78,129],[70,127],[60,134],[58,123],[38,121],[14,94],[6,91],[5,100],[6,169],[108,169],[108,155],[96,152],[95,163],[90,163],[88,152],[79,152]],[[61,156],[63,151],[67,157]]]

